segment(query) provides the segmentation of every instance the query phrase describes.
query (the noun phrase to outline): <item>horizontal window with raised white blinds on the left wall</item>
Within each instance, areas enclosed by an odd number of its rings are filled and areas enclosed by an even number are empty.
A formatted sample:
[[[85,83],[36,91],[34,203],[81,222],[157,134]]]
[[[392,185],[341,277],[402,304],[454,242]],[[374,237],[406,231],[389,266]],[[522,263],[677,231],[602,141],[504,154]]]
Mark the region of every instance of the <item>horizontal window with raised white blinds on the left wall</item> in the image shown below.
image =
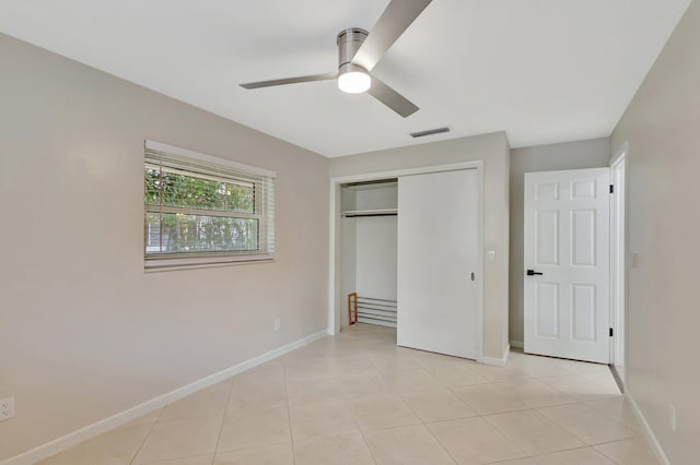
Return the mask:
[[[271,260],[275,172],[145,142],[145,267]]]

